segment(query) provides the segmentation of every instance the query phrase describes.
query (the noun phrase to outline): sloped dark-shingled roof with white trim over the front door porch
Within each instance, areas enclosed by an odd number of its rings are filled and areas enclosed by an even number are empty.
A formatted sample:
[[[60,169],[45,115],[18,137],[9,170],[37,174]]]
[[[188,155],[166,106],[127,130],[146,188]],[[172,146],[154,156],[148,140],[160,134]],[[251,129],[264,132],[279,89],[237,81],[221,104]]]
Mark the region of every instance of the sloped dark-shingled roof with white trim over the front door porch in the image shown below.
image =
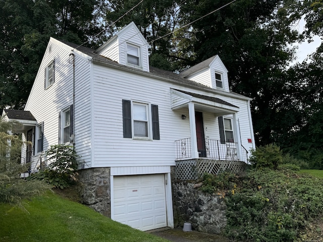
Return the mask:
[[[198,93],[172,89],[172,109],[179,109],[193,102],[196,110],[205,110],[216,113],[217,115],[226,115],[239,111],[239,107],[213,96],[206,96]]]

